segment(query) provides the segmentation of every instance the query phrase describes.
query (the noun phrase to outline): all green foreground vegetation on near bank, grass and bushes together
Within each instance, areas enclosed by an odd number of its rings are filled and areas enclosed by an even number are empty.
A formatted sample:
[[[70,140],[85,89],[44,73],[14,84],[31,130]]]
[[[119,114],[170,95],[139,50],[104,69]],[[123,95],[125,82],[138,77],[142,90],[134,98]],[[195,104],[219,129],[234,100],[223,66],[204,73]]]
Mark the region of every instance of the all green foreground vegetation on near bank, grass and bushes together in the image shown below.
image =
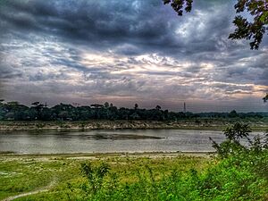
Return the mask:
[[[2,155],[0,198],[39,188],[17,200],[267,200],[268,134],[250,131],[227,128],[214,157]]]

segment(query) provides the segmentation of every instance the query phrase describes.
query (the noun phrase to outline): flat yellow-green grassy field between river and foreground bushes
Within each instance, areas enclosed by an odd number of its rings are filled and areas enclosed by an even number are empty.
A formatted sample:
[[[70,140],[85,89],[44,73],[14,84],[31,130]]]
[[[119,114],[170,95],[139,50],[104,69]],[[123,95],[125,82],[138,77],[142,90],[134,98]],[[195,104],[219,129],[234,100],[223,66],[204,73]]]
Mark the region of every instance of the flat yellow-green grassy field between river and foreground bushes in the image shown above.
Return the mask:
[[[173,170],[201,172],[209,163],[214,163],[208,155],[179,154],[1,155],[0,161],[0,200],[46,188],[46,192],[16,200],[71,200],[72,188],[85,182],[80,174],[80,164],[85,162],[91,162],[93,166],[107,163],[110,172],[116,173],[124,184],[135,183],[140,174],[147,175],[148,167],[154,172],[154,179],[160,180]]]

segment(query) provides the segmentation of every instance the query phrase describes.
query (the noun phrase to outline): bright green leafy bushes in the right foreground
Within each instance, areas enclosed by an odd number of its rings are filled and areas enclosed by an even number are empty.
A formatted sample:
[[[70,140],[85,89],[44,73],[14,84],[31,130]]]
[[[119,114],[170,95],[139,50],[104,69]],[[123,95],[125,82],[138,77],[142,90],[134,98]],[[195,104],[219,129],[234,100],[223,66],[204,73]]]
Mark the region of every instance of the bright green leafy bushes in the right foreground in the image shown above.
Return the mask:
[[[204,172],[190,170],[182,174],[174,170],[155,180],[147,166],[147,174],[137,172],[138,181],[121,183],[107,164],[93,167],[81,164],[87,182],[80,185],[85,196],[75,200],[267,200],[268,134],[249,138],[250,128],[236,123],[224,130],[226,140],[213,141],[218,158]],[[247,146],[240,141],[246,139]],[[213,139],[212,139],[213,140]]]

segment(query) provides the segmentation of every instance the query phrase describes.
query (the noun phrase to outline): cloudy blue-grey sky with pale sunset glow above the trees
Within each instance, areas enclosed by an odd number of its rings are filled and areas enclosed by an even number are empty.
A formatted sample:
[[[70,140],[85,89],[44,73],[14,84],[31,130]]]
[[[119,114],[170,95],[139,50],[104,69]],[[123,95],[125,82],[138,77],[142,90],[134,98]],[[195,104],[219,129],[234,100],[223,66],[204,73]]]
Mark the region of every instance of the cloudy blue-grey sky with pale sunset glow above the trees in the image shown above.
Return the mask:
[[[267,111],[268,37],[229,34],[235,1],[0,0],[0,97],[175,112]]]

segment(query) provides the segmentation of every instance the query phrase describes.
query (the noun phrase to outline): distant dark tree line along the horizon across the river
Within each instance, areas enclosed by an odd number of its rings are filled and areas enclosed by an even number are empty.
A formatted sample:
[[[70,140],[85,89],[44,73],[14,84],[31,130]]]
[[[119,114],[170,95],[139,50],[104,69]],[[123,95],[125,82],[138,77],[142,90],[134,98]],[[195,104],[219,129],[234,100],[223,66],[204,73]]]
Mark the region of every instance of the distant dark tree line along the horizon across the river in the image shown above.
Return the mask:
[[[39,102],[30,106],[18,102],[0,100],[0,121],[88,121],[88,120],[144,120],[144,121],[176,121],[197,118],[263,118],[268,113],[190,113],[170,112],[160,105],[153,109],[142,109],[138,104],[133,108],[118,108],[113,104],[103,105],[71,105],[59,104],[48,107]]]

